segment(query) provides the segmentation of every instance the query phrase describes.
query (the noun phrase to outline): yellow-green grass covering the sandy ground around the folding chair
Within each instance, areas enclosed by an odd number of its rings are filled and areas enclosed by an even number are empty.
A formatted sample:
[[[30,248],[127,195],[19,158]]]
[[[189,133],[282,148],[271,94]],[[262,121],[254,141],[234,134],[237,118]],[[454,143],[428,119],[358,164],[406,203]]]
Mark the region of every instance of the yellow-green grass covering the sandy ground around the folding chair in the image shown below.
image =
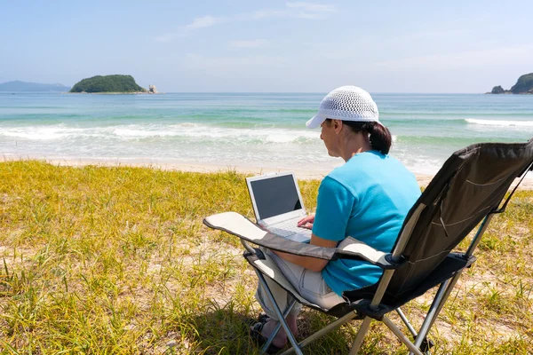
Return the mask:
[[[240,242],[202,224],[253,217],[243,177],[0,163],[0,353],[257,353],[244,325],[257,280]],[[300,182],[311,209],[318,185]],[[531,353],[532,216],[533,192],[519,191],[493,219],[430,334],[435,354]],[[415,325],[428,299],[405,307]],[[305,311],[300,333],[328,320]],[[357,325],[307,353],[347,353]],[[372,324],[363,353],[405,352]]]

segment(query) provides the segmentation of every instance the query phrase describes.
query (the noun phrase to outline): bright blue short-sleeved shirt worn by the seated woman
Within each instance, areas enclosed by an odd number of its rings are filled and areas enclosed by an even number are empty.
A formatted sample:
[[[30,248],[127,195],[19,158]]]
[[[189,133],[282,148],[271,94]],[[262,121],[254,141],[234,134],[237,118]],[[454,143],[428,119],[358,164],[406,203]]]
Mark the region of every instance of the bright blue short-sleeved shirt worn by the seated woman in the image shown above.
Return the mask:
[[[374,150],[355,154],[322,180],[313,233],[329,241],[351,236],[388,253],[419,195],[417,179],[401,162]],[[335,260],[324,267],[322,277],[342,295],[378,282],[382,273],[368,262]]]

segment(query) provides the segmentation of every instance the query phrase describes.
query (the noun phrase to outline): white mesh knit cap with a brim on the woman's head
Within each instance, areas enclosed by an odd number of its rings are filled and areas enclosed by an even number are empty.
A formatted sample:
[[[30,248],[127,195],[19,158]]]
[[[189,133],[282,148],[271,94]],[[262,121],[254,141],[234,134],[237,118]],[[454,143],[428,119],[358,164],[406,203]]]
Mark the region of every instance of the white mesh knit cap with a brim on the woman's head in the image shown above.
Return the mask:
[[[320,127],[327,118],[342,121],[379,122],[378,106],[367,91],[357,86],[341,86],[320,103],[318,113],[306,122],[307,128]]]

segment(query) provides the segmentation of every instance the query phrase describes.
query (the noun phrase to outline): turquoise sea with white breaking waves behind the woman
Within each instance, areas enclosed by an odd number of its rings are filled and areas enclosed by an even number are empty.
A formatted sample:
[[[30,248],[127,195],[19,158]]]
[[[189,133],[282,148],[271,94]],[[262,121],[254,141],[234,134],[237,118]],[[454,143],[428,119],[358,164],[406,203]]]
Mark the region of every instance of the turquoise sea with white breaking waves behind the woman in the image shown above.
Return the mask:
[[[319,130],[307,130],[324,94],[0,93],[6,158],[190,163],[330,170]],[[391,130],[391,154],[434,173],[455,150],[533,137],[533,96],[373,94]]]

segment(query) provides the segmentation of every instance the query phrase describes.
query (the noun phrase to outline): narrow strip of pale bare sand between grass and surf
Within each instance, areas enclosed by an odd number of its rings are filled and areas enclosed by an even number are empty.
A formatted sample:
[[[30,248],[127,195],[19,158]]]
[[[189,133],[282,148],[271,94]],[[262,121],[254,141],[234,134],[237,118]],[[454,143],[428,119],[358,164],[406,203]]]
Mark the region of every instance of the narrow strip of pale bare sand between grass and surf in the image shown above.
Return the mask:
[[[246,166],[246,165],[215,165],[215,164],[197,164],[187,162],[152,162],[152,161],[123,161],[123,160],[89,160],[89,159],[44,159],[44,158],[17,158],[11,159],[5,156],[0,158],[0,162],[19,162],[19,161],[40,161],[47,162],[57,166],[68,167],[84,167],[84,166],[98,166],[106,168],[114,167],[133,167],[133,168],[147,168],[157,170],[168,171],[184,171],[184,172],[199,172],[204,174],[217,173],[220,171],[235,171],[240,174],[260,175],[260,174],[272,174],[276,172],[292,171],[299,180],[322,180],[323,177],[328,175],[331,170],[301,170],[301,169],[275,169],[271,167],[258,167],[258,166]],[[434,177],[434,174],[421,174],[413,173],[417,178],[418,185],[427,186]],[[515,179],[511,187],[516,185],[520,179]],[[529,173],[529,176],[524,178],[521,182],[519,190],[533,190],[533,174]]]

